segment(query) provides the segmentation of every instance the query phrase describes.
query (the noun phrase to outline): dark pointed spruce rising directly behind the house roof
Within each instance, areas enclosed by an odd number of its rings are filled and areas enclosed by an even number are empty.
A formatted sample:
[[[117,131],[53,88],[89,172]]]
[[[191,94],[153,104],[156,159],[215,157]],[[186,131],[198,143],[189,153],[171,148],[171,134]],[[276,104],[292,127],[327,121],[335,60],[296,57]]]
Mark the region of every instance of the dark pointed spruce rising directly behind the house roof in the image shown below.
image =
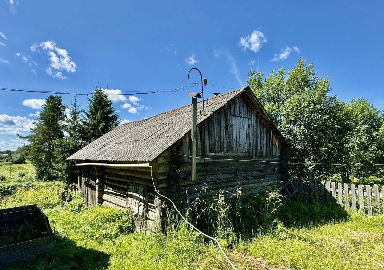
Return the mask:
[[[100,87],[95,88],[92,97],[89,99],[88,109],[84,111],[84,114],[86,120],[83,141],[87,143],[103,136],[120,123],[119,115],[113,106],[113,100]]]

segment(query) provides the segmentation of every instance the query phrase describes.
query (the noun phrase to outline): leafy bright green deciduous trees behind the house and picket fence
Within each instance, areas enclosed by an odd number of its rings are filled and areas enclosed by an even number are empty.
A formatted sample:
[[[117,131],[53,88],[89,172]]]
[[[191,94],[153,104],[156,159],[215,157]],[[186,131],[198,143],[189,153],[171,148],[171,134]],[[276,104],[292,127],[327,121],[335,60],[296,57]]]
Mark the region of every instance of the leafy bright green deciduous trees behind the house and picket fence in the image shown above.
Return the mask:
[[[335,164],[378,161],[380,154],[375,151],[383,148],[374,138],[377,140],[382,134],[380,111],[363,99],[345,103],[331,95],[331,81],[316,76],[312,63],[306,65],[300,59],[288,74],[281,68],[266,78],[252,69],[247,83],[296,152],[293,160]],[[316,169],[345,181],[352,175],[351,167]],[[355,176],[364,176],[362,171],[353,169]]]

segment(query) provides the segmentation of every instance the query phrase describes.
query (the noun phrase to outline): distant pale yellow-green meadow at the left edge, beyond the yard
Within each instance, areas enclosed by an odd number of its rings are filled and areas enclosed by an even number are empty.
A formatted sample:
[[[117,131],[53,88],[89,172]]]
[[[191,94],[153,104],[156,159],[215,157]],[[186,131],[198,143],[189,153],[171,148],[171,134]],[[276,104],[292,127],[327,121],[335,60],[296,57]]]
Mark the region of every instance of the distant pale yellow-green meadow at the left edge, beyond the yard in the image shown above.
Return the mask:
[[[10,165],[8,162],[0,162],[0,179],[5,178],[1,182],[30,182],[35,179],[35,168],[30,162],[24,164],[12,164],[11,175],[9,175]]]

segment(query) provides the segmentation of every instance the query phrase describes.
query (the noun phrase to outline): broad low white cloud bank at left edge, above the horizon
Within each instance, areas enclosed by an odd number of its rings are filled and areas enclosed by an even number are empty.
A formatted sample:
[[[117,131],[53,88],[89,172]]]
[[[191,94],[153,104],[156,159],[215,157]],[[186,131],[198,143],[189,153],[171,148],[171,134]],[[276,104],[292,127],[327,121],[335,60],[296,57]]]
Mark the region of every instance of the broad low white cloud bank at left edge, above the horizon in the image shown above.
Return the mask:
[[[7,135],[25,134],[33,128],[32,119],[22,116],[0,114],[0,133]]]

